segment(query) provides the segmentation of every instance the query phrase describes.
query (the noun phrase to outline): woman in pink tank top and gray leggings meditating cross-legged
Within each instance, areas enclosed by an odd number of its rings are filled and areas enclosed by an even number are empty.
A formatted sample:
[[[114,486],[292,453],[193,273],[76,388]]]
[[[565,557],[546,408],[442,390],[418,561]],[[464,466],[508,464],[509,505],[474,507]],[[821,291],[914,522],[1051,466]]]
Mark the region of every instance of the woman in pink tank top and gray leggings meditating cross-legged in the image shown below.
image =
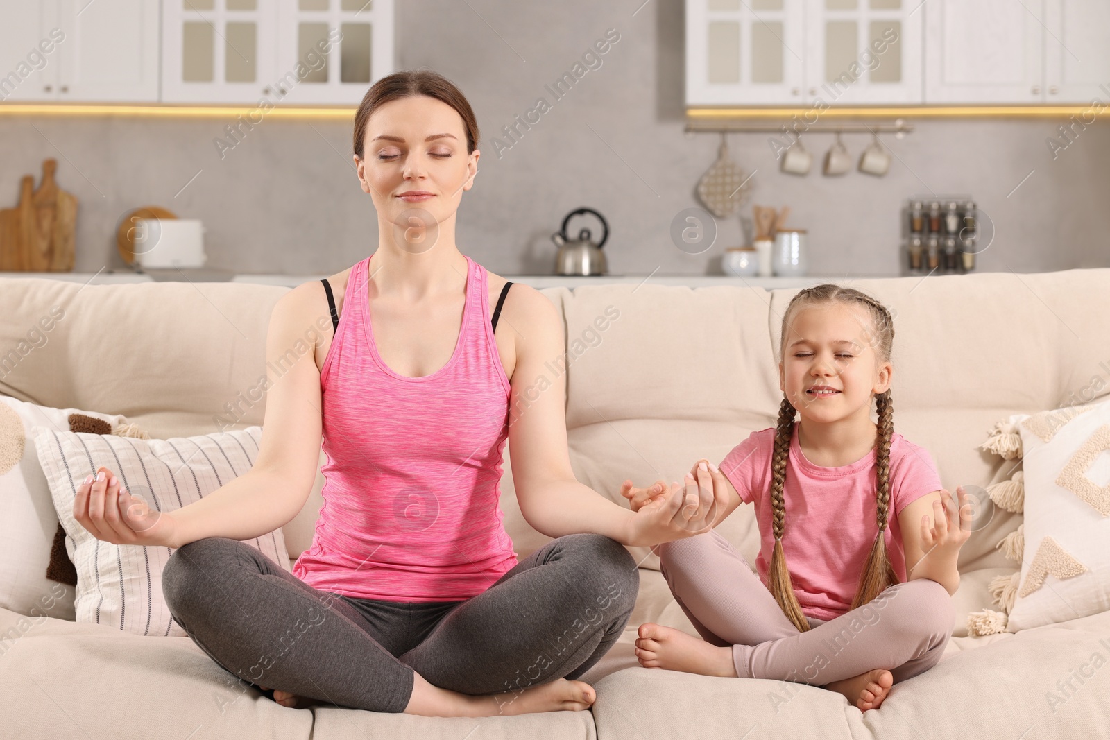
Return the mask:
[[[708,476],[636,514],[575,480],[565,386],[531,393],[565,352],[556,308],[528,286],[506,292],[455,245],[477,140],[470,104],[441,75],[375,83],[355,115],[354,163],[377,211],[377,250],[275,304],[268,368],[287,369],[269,388],[254,466],[161,517],[128,515],[138,499],[111,472],[78,491],[74,516],[97,537],[178,548],[162,580],[176,621],[284,706],[586,709],[593,688],[574,679],[636,598],[620,544],[706,531],[725,504]],[[329,315],[333,334],[290,355]],[[321,435],[325,503],[291,575],[239,540],[301,510]],[[556,538],[519,562],[497,508],[506,439],[525,519]]]

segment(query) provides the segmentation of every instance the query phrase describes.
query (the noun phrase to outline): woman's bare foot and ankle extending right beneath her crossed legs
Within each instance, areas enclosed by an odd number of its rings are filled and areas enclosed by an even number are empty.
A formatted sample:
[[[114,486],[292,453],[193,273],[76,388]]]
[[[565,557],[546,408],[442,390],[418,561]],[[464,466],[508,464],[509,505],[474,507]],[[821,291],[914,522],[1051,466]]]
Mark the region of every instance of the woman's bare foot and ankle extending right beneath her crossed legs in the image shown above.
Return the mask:
[[[581,711],[589,709],[597,698],[594,687],[584,681],[558,678],[521,691],[486,696],[470,696],[441,689],[414,675],[413,692],[405,707],[406,714],[424,717],[496,717],[528,712]]]

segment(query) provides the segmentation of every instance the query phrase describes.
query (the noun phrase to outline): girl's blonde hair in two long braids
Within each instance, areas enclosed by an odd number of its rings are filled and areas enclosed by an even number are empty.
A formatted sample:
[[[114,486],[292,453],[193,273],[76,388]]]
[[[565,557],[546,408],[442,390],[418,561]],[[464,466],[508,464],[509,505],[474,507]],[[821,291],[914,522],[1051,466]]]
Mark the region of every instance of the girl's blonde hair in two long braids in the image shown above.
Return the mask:
[[[800,308],[824,303],[862,304],[867,307],[872,323],[872,330],[865,330],[869,344],[879,356],[880,362],[890,361],[890,348],[895,338],[894,320],[886,306],[871,296],[851,287],[841,287],[831,283],[816,285],[799,291],[783,316],[783,334],[780,356],[786,351],[786,334],[789,326],[790,316]],[[859,585],[856,588],[856,597],[852,599],[850,609],[862,606],[881,594],[887,587],[898,582],[894,566],[887,555],[886,539],[884,533],[887,529],[887,521],[890,505],[890,439],[894,435],[892,408],[890,402],[890,389],[875,396],[875,406],[878,413],[878,437],[876,439],[875,465],[878,468],[876,498],[877,498],[877,520],[878,534],[871,551],[867,556],[864,572],[860,576]],[[785,525],[785,507],[783,503],[783,487],[786,481],[786,462],[790,452],[790,436],[794,433],[794,417],[797,413],[789,398],[783,398],[783,405],[778,409],[778,428],[775,433],[775,452],[771,457],[770,472],[770,501],[773,518],[771,525],[775,535],[775,549],[771,555],[770,566],[767,571],[767,588],[774,595],[783,614],[785,614],[799,631],[807,631],[809,622],[801,612],[801,606],[794,592],[790,582],[790,572],[786,567],[786,557],[783,554],[783,529]],[[850,610],[849,609],[849,610]]]

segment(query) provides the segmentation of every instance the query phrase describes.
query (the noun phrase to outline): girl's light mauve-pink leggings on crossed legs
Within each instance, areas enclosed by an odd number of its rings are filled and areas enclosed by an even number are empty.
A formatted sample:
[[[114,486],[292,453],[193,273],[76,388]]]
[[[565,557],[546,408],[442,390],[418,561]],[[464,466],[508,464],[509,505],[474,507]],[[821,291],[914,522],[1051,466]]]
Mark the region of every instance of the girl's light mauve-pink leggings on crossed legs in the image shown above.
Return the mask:
[[[895,682],[932,668],[952,632],[948,590],[918,578],[895,584],[799,632],[747,560],[716,530],[657,546],[678,606],[706,642],[733,648],[736,675],[824,686],[886,668]]]

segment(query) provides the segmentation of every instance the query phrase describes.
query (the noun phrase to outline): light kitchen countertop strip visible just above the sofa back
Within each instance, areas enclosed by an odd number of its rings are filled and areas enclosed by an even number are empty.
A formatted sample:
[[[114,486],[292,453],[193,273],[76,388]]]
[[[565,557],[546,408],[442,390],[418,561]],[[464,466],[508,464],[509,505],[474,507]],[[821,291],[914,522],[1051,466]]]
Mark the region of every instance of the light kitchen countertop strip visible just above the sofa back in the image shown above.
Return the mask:
[[[214,270],[159,270],[148,273],[127,272],[100,272],[100,273],[31,273],[31,272],[0,272],[0,278],[4,277],[44,277],[50,280],[64,280],[80,283],[94,283],[97,285],[119,284],[119,283],[148,283],[154,281],[189,281],[192,283],[256,283],[262,285],[284,285],[294,287],[301,283],[312,280],[320,280],[329,275],[274,275],[274,274],[233,274]],[[888,277],[889,275],[852,275],[858,277]],[[613,283],[640,284],[650,282],[653,285],[686,285],[689,287],[706,287],[713,285],[740,285],[749,287],[764,287],[767,290],[780,287],[806,287],[825,282],[842,281],[842,275],[807,275],[801,277],[736,277],[733,275],[504,275],[514,283],[525,283],[535,288],[566,286],[569,288],[583,285],[606,285]],[[94,278],[94,280],[93,280]]]

